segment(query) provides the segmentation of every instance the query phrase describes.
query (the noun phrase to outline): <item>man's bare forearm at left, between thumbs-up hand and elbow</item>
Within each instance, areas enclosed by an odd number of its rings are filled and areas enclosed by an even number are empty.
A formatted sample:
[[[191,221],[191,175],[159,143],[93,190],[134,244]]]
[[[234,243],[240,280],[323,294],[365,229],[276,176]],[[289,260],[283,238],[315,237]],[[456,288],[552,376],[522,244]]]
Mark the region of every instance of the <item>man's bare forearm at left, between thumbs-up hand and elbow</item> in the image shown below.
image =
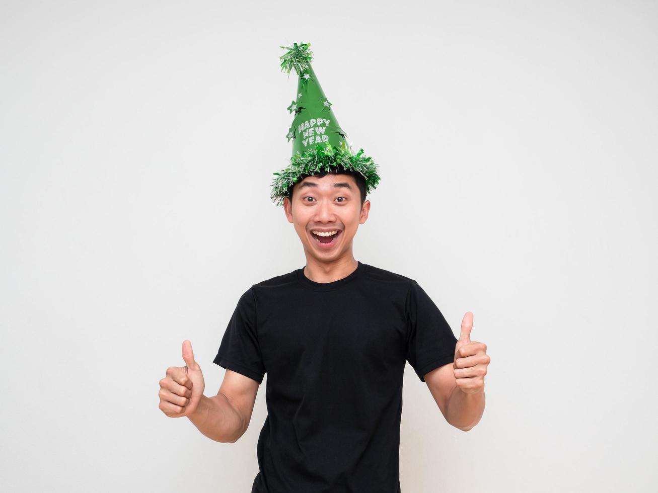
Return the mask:
[[[216,442],[234,443],[244,433],[244,421],[224,394],[201,396],[199,407],[188,419],[201,433]]]

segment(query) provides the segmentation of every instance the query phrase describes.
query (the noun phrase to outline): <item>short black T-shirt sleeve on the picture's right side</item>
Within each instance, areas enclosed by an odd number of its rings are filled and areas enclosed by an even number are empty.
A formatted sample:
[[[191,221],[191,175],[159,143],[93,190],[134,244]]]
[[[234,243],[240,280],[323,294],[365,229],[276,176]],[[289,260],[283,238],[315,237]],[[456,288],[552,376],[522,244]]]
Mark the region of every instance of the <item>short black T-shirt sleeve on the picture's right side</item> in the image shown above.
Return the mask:
[[[407,300],[407,361],[421,382],[423,375],[455,360],[457,338],[430,296],[411,281]]]

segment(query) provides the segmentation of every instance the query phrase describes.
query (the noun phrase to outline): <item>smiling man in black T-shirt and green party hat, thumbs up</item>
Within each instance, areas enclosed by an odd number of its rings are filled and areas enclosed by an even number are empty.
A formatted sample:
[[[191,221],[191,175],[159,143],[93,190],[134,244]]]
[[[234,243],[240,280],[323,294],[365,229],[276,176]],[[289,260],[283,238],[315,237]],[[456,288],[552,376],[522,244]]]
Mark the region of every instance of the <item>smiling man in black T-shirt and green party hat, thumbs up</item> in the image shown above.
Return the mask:
[[[379,176],[370,158],[346,145],[331,108],[320,114],[315,100],[326,106],[326,98],[308,47],[295,44],[290,58],[282,57],[300,78],[289,131],[295,149],[272,192],[301,240],[306,265],[241,295],[213,360],[226,369],[216,396],[203,395],[201,368],[186,340],[186,366],[167,369],[159,407],[169,417],[188,417],[213,440],[234,443],[249,426],[267,373],[268,416],[252,493],[399,493],[406,362],[448,423],[468,431],[484,411],[490,358],[485,344],[470,340],[470,312],[457,340],[415,280],[355,260],[353,238],[368,218],[367,191]],[[305,74],[311,77],[302,82]],[[318,120],[324,131],[307,132]]]

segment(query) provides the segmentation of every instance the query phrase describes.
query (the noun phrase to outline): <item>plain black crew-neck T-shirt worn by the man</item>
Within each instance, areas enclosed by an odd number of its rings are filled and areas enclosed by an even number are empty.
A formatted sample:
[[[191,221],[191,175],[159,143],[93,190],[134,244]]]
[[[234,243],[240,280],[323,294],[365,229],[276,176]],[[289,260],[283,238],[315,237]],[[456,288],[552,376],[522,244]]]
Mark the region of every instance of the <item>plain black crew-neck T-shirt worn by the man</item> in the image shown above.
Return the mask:
[[[456,342],[415,280],[361,262],[331,283],[300,268],[252,285],[213,360],[267,373],[252,493],[399,493],[405,363],[424,381]]]

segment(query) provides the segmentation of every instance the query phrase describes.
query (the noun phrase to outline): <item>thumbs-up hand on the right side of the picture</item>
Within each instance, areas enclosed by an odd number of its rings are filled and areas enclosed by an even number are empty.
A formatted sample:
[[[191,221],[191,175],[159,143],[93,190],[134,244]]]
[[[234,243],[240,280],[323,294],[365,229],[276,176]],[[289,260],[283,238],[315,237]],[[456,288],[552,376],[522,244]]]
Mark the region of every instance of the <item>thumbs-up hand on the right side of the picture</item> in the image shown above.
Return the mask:
[[[470,330],[473,328],[473,314],[466,312],[461,321],[459,340],[455,344],[455,363],[453,371],[457,387],[466,394],[476,394],[484,391],[484,375],[490,358],[487,345],[484,342],[470,340]]]

